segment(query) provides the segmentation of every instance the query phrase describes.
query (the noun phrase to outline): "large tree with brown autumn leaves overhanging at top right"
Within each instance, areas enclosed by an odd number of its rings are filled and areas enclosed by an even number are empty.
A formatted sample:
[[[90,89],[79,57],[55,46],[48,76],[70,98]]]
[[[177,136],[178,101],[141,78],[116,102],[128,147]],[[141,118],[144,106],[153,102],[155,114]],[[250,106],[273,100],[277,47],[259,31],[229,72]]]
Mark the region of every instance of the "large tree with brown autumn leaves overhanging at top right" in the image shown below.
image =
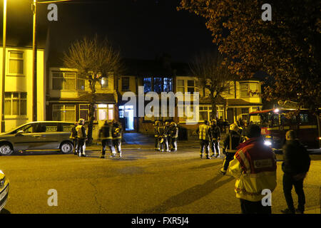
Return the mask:
[[[267,100],[320,107],[321,1],[271,0],[272,21],[263,21],[260,0],[182,0],[178,9],[203,16],[230,71],[241,77],[265,71]]]

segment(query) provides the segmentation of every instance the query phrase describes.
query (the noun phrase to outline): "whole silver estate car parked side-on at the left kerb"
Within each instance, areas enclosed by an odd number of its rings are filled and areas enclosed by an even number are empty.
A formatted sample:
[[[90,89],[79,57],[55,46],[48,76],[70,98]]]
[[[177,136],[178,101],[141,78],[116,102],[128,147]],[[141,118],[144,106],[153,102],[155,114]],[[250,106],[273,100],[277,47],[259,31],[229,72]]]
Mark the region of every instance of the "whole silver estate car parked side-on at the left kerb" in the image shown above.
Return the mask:
[[[0,155],[11,155],[17,151],[61,150],[73,151],[70,132],[74,123],[61,121],[38,121],[0,134]]]

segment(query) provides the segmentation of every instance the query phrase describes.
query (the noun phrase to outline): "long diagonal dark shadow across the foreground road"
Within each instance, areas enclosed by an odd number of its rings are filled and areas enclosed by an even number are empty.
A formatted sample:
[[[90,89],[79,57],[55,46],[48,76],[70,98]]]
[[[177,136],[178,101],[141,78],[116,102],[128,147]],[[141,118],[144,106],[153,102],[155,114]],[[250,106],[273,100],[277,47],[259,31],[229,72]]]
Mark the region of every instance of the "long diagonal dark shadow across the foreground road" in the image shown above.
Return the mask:
[[[234,180],[234,177],[230,177],[227,180],[222,180],[218,182],[223,176],[217,175],[213,179],[208,180],[203,185],[195,185],[194,187],[181,192],[178,195],[174,195],[169,199],[165,200],[162,204],[157,205],[151,209],[146,209],[143,214],[164,214],[168,210],[174,207],[183,207],[185,205],[191,204],[198,199],[206,197],[211,192],[213,192],[218,187],[225,185],[226,183]]]

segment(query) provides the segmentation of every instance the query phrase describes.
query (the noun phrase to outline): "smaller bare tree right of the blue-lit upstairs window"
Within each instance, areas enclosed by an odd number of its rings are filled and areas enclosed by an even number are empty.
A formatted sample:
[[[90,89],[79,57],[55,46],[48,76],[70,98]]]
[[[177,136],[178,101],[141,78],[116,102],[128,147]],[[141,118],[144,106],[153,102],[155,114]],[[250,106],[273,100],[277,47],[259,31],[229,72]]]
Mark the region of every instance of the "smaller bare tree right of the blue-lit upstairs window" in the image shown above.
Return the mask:
[[[230,81],[235,80],[235,76],[230,73],[228,66],[223,65],[224,57],[220,53],[201,53],[195,56],[190,63],[190,71],[199,78],[200,86],[210,91],[210,101],[212,113],[210,118],[216,118],[216,105],[220,95],[228,90]]]

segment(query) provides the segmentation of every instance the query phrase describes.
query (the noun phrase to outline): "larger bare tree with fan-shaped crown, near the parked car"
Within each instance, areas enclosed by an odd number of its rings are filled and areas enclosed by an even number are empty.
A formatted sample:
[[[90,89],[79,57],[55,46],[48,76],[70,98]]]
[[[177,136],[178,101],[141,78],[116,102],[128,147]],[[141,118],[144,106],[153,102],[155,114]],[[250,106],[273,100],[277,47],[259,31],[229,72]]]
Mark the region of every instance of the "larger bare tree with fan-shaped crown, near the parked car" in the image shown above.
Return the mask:
[[[83,38],[73,43],[68,52],[63,54],[63,64],[67,68],[76,68],[78,74],[88,80],[90,88],[88,143],[90,144],[93,140],[96,84],[109,74],[116,76],[121,72],[123,69],[121,53],[113,48],[106,38],[101,41],[96,35],[91,39]]]

